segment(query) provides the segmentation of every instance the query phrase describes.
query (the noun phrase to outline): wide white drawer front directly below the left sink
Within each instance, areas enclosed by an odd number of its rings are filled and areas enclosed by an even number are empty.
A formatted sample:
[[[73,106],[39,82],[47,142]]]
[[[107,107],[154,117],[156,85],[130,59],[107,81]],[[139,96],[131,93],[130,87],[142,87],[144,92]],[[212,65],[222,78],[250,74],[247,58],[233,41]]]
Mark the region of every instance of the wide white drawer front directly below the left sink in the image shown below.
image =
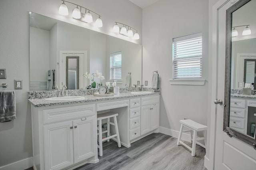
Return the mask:
[[[94,114],[96,115],[95,104],[45,109],[43,110],[43,123],[70,120]]]

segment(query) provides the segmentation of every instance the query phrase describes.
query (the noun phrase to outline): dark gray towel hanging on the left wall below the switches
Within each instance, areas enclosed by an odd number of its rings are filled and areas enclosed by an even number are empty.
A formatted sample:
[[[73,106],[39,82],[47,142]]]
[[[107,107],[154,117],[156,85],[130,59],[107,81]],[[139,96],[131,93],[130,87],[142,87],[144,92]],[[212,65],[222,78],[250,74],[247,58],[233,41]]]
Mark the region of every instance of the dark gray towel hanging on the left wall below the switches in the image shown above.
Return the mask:
[[[0,91],[0,122],[16,119],[15,91]]]

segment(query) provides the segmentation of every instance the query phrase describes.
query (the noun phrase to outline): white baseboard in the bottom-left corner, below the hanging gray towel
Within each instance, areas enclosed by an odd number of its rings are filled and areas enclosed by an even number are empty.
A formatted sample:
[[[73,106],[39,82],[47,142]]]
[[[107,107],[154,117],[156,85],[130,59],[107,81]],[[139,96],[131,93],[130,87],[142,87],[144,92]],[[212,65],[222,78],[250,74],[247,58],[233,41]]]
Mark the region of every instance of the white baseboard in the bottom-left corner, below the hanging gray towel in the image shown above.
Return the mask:
[[[33,166],[33,157],[1,166],[0,170],[24,170]]]

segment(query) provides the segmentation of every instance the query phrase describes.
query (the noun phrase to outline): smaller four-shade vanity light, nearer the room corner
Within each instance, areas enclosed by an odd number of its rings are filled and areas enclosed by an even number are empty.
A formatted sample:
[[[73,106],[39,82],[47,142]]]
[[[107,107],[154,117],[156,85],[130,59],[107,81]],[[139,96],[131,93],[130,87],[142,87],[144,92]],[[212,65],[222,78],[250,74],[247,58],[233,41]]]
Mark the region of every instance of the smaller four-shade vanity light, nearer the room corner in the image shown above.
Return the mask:
[[[116,33],[119,33],[119,34],[122,34],[124,36],[128,36],[128,37],[133,37],[134,40],[138,40],[140,39],[140,36],[138,34],[138,31],[135,30],[134,28],[132,28],[131,26],[128,26],[126,24],[122,24],[120,22],[115,22],[116,24],[114,25],[113,27],[113,31],[116,32]],[[120,30],[120,27],[119,25],[122,25],[122,28]],[[127,28],[128,28],[128,31],[127,31]],[[135,34],[133,34],[133,30],[136,32]]]

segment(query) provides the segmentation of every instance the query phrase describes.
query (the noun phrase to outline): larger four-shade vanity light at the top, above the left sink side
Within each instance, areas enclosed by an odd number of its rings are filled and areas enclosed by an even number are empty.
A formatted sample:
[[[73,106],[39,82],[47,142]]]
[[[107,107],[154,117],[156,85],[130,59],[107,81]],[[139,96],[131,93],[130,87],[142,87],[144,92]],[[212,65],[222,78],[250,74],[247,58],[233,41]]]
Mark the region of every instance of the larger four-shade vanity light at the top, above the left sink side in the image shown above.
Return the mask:
[[[72,12],[72,17],[76,20],[80,20],[82,22],[86,22],[86,23],[91,23],[93,22],[92,19],[92,14],[96,14],[98,16],[96,22],[95,22],[95,26],[97,27],[102,27],[102,20],[101,20],[101,16],[95,12],[93,12],[92,10],[89,10],[87,8],[84,8],[83,6],[80,6],[78,4],[74,4],[72,2],[68,2],[66,0],[61,0],[63,3],[60,5],[59,8],[59,14],[67,16],[68,15],[68,7],[66,6],[66,3],[70,3],[73,5],[76,5],[76,8],[74,8],[73,12]]]

